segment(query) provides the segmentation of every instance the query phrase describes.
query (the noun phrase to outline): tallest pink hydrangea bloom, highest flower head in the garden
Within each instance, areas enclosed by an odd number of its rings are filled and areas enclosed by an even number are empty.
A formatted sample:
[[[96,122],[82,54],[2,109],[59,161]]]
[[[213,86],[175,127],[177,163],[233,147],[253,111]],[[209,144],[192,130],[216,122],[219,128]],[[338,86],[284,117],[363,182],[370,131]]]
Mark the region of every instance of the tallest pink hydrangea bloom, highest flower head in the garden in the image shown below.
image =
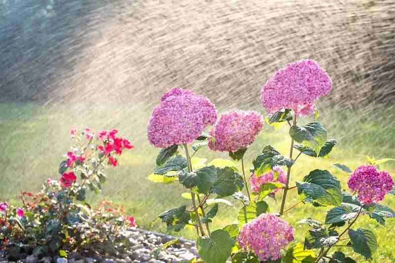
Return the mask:
[[[261,102],[269,113],[292,109],[296,114],[314,112],[314,100],[332,89],[329,75],[314,60],[288,64],[276,72],[261,90]]]

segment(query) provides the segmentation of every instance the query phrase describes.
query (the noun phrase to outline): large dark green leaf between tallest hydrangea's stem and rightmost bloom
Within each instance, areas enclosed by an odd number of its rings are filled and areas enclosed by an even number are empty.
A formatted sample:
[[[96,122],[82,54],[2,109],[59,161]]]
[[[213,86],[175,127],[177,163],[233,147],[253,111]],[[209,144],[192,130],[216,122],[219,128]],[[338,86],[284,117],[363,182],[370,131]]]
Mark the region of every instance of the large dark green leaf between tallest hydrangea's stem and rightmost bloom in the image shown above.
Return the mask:
[[[327,170],[311,171],[302,182],[296,182],[302,200],[319,205],[340,205],[342,193],[340,181]]]

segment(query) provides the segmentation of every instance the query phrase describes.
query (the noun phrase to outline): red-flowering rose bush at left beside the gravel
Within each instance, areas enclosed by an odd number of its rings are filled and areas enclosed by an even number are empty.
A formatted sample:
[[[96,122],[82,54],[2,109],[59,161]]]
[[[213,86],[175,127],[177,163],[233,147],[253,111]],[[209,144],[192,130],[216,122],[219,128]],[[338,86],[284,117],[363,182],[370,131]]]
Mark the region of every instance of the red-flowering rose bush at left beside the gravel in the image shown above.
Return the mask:
[[[47,179],[38,193],[21,191],[21,207],[0,203],[0,249],[11,259],[22,251],[63,257],[73,251],[115,253],[128,242],[123,230],[136,226],[122,206],[104,200],[91,207],[86,200],[87,191],[101,190],[104,170],[117,166],[117,156],[133,146],[116,129],[71,134],[74,146],[59,166],[59,178]]]

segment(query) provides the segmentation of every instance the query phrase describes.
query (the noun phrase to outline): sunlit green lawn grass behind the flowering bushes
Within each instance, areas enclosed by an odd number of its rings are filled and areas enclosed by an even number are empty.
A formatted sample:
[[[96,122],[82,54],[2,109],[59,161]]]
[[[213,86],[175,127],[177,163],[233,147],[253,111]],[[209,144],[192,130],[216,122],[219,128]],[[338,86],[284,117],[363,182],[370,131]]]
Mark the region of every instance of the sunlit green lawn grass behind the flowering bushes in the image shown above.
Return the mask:
[[[18,202],[20,189],[39,190],[46,178],[57,178],[57,168],[63,155],[71,146],[70,128],[90,126],[93,129],[110,129],[117,127],[123,136],[131,139],[135,149],[125,152],[120,158],[120,166],[108,170],[108,182],[97,199],[108,198],[124,204],[127,212],[136,217],[142,228],[165,231],[165,225],[158,221],[151,224],[158,213],[183,204],[190,205],[189,200],[181,198],[185,189],[174,183],[170,185],[155,184],[146,177],[152,173],[158,149],[146,139],[146,124],[152,106],[145,105],[57,105],[47,107],[33,104],[0,104],[0,200]],[[341,180],[342,188],[347,188],[347,174],[332,166],[340,162],[352,169],[363,163],[358,154],[370,154],[376,158],[395,156],[395,128],[385,125],[391,114],[381,112],[379,116],[357,117],[356,113],[322,113],[322,122],[329,131],[330,138],[339,141],[329,158],[312,158],[302,155],[292,170],[291,185],[300,180],[313,169],[327,169]],[[303,120],[308,121],[308,120]],[[287,129],[272,130],[265,128],[256,142],[246,153],[245,160],[250,166],[252,158],[266,145],[271,144],[283,154],[288,155],[290,139]],[[225,153],[200,150],[198,157],[208,160],[216,157],[228,158]],[[240,167],[239,167],[240,168]],[[392,175],[395,164],[381,166]],[[90,197],[94,200],[93,196]],[[277,202],[268,200],[271,211],[278,211],[281,193]],[[230,198],[234,208],[220,206],[218,216],[214,219],[212,229],[228,225],[236,220],[240,204]],[[296,190],[291,190],[286,207],[298,201]],[[94,201],[92,201],[94,202]],[[392,196],[387,196],[384,204],[395,208]],[[325,208],[314,208],[310,204],[299,205],[285,219],[296,227],[296,238],[303,241],[307,228],[297,225],[299,220],[312,217],[323,220]],[[355,227],[372,229],[379,243],[373,262],[395,262],[392,229],[395,220],[387,220],[386,226],[379,225],[367,216],[357,221]],[[174,234],[174,233],[172,233]],[[179,235],[194,238],[193,229],[185,229]],[[348,254],[353,254],[348,251]],[[357,262],[364,262],[362,257],[353,254]]]

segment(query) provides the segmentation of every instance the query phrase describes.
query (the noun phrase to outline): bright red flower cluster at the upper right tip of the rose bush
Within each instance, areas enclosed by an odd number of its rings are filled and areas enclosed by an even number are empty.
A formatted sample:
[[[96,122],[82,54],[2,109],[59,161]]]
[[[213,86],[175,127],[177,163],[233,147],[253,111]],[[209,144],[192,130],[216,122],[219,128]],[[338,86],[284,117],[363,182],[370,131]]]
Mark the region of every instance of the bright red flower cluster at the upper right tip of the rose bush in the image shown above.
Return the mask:
[[[101,131],[97,135],[99,140],[104,142],[104,146],[100,145],[97,149],[101,150],[104,155],[108,155],[109,163],[113,166],[118,165],[118,160],[111,155],[112,152],[115,151],[116,154],[120,155],[123,149],[134,148],[134,146],[130,144],[129,140],[117,137],[117,133],[117,129],[112,129],[111,131]]]

